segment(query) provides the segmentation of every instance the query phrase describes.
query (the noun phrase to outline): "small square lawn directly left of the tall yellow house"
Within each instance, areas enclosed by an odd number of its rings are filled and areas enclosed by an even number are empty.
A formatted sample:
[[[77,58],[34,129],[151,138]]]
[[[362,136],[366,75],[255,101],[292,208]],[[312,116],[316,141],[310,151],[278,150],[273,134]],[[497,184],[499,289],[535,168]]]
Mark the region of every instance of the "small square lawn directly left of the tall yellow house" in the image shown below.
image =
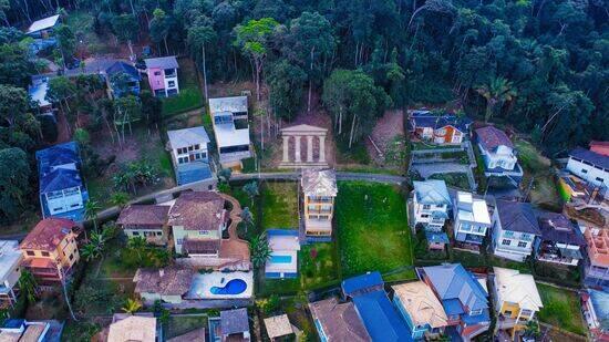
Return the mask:
[[[298,228],[298,184],[265,182],[260,187],[262,229]]]

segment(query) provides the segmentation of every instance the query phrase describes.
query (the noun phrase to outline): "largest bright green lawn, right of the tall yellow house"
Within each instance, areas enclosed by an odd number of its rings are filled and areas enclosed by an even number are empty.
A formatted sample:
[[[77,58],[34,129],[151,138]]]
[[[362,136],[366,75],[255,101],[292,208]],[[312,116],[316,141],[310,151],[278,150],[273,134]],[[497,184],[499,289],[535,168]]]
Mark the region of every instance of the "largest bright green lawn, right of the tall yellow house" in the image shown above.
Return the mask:
[[[406,204],[391,185],[339,182],[336,226],[344,278],[412,266],[412,237]],[[414,271],[404,279],[414,278]]]

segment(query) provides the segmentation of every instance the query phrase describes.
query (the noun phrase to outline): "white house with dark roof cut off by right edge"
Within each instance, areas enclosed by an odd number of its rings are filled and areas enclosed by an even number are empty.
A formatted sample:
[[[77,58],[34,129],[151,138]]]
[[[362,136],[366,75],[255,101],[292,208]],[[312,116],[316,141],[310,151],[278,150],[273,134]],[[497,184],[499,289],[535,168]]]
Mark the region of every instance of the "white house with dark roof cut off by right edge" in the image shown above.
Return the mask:
[[[595,186],[609,186],[609,157],[578,147],[569,153],[567,169]]]

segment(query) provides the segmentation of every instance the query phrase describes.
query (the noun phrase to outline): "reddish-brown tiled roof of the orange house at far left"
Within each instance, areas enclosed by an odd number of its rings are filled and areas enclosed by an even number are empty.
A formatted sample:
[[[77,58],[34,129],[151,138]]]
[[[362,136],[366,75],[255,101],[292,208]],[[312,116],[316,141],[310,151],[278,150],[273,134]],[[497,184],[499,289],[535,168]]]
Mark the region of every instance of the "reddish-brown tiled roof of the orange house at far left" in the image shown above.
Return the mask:
[[[21,241],[21,249],[54,251],[59,243],[76,227],[73,220],[49,217],[42,219]]]

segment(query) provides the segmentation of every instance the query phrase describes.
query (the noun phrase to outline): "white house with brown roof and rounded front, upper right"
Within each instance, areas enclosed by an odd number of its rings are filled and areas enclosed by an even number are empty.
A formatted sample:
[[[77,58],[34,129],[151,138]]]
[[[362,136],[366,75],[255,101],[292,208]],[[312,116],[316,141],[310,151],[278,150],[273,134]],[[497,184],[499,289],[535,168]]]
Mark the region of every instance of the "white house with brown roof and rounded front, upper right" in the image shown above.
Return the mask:
[[[476,129],[476,139],[484,160],[484,175],[505,177],[517,186],[523,179],[523,168],[505,132],[494,126],[482,127]]]

